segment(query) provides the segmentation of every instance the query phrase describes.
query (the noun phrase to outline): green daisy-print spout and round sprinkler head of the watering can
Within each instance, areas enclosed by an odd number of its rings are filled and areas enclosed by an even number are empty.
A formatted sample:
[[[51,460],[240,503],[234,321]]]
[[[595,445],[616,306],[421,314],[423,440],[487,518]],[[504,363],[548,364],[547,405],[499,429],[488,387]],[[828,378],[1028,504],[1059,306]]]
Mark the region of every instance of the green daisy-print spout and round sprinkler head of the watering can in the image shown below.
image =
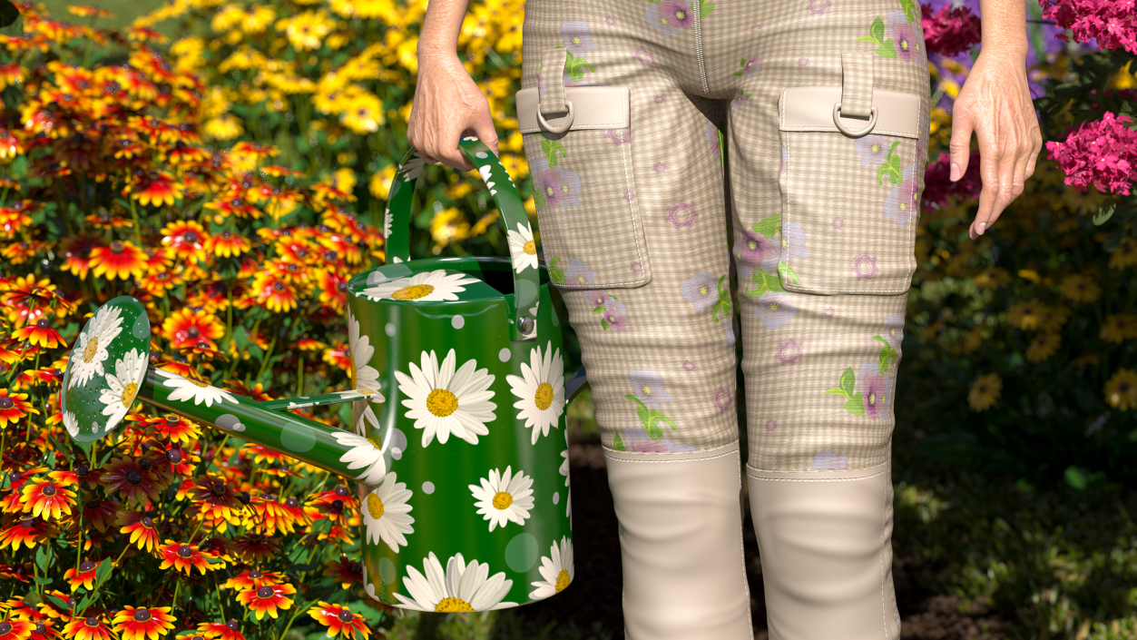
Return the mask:
[[[74,440],[94,442],[113,433],[135,400],[214,426],[331,473],[375,487],[387,473],[388,443],[330,427],[290,409],[367,401],[359,391],[257,402],[150,366],[150,321],[130,296],[91,316],[72,348],[60,391],[64,426]]]

